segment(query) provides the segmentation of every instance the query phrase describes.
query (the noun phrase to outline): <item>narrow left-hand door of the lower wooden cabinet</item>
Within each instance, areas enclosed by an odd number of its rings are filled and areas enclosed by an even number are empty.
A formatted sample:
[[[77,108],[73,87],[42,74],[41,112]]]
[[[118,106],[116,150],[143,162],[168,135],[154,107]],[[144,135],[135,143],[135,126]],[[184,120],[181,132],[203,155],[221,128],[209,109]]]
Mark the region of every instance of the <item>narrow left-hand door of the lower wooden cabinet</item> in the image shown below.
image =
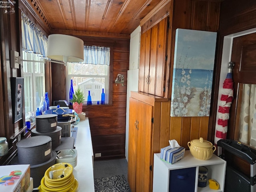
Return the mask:
[[[137,109],[138,101],[130,97],[129,104],[129,147],[128,147],[128,182],[132,192],[136,187],[136,146],[137,146]]]

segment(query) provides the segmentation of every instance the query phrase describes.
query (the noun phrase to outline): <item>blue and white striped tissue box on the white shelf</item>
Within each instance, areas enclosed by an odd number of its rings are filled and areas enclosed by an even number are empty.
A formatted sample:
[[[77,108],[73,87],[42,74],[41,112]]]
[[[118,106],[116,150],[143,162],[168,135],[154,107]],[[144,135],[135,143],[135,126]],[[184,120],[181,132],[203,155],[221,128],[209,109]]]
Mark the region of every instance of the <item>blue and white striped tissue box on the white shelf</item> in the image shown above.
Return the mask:
[[[184,147],[174,147],[167,146],[161,148],[160,158],[170,164],[181,160],[184,157],[185,148]]]

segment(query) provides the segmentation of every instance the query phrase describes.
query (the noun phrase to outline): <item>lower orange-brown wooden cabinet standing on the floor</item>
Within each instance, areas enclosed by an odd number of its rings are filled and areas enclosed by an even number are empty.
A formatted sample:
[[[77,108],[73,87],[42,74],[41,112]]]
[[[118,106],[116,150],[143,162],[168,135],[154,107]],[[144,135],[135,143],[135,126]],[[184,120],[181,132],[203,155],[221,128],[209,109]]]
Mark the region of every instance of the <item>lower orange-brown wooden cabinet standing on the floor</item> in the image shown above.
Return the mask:
[[[170,101],[131,92],[129,106],[128,182],[132,192],[152,191],[153,155],[168,146]]]

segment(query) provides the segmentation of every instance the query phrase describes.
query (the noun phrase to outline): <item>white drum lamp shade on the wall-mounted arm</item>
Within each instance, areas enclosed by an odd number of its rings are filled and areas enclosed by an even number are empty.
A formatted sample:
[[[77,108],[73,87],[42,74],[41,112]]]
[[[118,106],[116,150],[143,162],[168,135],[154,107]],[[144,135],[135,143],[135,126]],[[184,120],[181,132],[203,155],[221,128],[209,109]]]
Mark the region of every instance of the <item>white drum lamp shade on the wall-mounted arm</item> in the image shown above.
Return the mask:
[[[48,36],[46,56],[56,61],[83,62],[84,41],[70,35],[51,34]]]

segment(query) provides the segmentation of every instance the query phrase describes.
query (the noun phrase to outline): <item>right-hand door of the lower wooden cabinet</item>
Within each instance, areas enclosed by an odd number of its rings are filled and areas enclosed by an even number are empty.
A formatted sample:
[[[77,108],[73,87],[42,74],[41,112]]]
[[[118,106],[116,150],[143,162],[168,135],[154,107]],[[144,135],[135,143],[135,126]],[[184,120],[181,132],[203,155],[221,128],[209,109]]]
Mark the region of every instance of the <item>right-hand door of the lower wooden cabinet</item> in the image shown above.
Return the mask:
[[[138,101],[136,192],[150,191],[153,106]]]

